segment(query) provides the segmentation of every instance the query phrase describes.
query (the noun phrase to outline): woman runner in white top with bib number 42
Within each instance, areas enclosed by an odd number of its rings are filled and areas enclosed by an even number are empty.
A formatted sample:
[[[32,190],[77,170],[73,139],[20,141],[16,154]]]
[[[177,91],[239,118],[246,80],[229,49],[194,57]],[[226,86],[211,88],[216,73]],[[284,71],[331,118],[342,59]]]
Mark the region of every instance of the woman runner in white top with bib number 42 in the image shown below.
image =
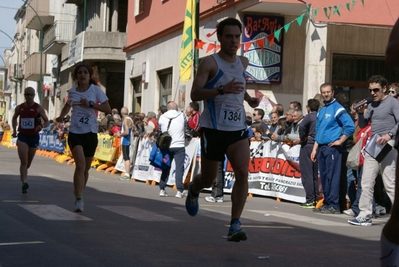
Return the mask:
[[[97,112],[111,112],[107,96],[92,76],[93,69],[88,64],[81,62],[76,66],[73,78],[77,86],[68,90],[68,100],[56,119],[57,122],[63,122],[64,116],[72,109],[68,145],[76,165],[73,174],[75,212],[83,212],[84,209],[83,191],[98,144]]]

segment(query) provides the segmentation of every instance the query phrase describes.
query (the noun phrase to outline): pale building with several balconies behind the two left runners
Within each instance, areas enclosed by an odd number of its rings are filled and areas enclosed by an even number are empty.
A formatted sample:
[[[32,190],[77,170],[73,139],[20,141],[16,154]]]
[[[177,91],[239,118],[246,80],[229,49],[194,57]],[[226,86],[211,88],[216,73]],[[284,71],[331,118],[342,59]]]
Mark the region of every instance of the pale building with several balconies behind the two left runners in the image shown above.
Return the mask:
[[[29,0],[16,12],[16,32],[7,67],[11,81],[9,117],[24,101],[23,89],[37,91],[49,118],[59,115],[74,86],[71,73],[81,61],[112,107],[123,105],[127,0]],[[41,67],[41,68],[40,68]]]

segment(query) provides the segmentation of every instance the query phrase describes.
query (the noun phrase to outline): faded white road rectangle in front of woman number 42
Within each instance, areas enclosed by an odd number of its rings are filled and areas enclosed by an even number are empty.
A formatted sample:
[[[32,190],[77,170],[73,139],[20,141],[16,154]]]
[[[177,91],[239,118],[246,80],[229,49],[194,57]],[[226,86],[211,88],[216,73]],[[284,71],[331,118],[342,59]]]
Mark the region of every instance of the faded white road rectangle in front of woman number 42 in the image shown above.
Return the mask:
[[[20,204],[22,208],[32,212],[45,220],[53,221],[91,221],[90,218],[80,215],[79,213],[72,212],[56,205],[31,205]]]

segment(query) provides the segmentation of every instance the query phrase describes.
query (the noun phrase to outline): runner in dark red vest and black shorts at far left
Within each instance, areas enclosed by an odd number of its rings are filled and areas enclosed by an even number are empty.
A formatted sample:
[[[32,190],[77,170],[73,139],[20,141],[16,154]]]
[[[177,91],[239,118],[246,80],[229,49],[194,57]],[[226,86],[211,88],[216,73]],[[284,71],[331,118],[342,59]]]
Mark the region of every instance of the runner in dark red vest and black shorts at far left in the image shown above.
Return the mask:
[[[12,137],[18,137],[17,147],[21,161],[19,172],[22,182],[22,194],[26,194],[29,188],[26,180],[28,178],[28,169],[39,145],[39,132],[43,127],[47,127],[50,124],[43,107],[34,101],[35,89],[32,87],[25,88],[24,96],[25,102],[15,108],[15,113],[12,117]]]

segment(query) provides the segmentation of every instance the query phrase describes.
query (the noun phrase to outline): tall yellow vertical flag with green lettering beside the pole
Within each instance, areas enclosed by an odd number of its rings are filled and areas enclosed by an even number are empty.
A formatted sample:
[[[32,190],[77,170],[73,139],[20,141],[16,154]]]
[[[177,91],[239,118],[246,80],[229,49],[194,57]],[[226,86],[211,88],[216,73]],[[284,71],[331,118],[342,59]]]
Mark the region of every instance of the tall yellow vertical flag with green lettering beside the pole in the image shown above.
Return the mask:
[[[196,39],[195,34],[195,0],[187,0],[186,14],[184,16],[184,26],[182,43],[180,50],[180,80],[185,83],[191,79],[194,62],[193,44]],[[202,42],[202,41],[201,41]],[[198,46],[199,42],[196,42]]]

